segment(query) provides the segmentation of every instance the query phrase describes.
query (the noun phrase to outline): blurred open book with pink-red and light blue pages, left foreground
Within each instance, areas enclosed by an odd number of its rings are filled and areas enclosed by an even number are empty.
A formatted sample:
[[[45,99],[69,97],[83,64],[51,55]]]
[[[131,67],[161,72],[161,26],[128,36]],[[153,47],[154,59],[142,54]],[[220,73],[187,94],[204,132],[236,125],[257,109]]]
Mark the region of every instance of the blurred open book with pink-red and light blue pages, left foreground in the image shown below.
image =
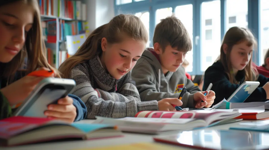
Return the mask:
[[[52,140],[121,136],[114,125],[66,123],[48,118],[10,117],[0,121],[1,146],[14,146]]]

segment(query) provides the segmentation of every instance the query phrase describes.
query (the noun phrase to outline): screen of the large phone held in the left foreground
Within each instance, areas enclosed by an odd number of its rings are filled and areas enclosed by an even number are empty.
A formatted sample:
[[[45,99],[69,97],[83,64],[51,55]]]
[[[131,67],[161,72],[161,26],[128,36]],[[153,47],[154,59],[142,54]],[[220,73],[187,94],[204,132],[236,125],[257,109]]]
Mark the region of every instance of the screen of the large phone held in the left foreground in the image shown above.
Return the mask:
[[[45,117],[44,111],[47,110],[48,104],[57,103],[57,100],[66,95],[67,90],[59,87],[43,87],[19,115],[30,117]]]

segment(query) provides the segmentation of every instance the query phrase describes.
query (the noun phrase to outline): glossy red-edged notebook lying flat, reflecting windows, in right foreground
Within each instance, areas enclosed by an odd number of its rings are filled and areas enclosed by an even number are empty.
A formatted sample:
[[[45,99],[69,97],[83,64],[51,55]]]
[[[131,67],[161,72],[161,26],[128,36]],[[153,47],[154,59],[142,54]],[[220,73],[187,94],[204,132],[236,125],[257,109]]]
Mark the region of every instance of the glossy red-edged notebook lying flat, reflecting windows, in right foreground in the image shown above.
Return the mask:
[[[154,141],[196,149],[252,150],[268,149],[268,141],[258,138],[269,133],[240,130],[192,130],[158,135]]]

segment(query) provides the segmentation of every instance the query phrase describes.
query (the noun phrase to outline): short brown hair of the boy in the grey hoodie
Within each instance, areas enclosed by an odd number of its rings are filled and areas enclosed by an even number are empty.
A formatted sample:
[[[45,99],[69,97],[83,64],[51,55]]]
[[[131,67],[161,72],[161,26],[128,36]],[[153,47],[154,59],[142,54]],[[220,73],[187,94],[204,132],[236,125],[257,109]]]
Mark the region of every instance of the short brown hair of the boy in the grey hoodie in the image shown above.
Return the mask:
[[[163,51],[168,45],[176,48],[178,51],[187,52],[192,50],[192,40],[189,33],[183,23],[174,14],[162,19],[156,25],[153,36],[153,44],[155,43],[159,43]]]

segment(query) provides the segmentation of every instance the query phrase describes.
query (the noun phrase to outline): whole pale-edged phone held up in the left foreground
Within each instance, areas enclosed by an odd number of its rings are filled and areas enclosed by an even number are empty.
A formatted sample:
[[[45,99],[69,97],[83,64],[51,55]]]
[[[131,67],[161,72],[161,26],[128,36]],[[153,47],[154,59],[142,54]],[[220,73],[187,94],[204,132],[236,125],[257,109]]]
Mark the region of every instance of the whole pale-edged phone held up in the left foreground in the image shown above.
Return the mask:
[[[44,111],[48,110],[48,105],[56,104],[58,99],[67,96],[75,87],[76,82],[72,79],[45,78],[17,108],[14,115],[46,117]]]

